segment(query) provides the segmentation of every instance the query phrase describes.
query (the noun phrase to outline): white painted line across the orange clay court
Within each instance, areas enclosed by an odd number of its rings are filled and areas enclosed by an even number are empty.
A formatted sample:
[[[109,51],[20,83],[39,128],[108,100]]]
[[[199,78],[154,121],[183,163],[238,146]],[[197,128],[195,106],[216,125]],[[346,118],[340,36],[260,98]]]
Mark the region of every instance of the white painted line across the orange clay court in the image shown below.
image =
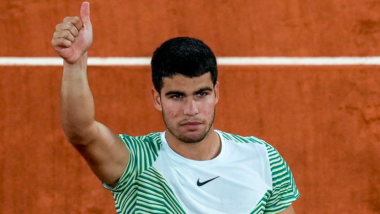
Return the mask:
[[[218,65],[380,65],[380,56],[217,57]],[[61,66],[59,57],[0,57],[0,66]],[[89,65],[150,65],[150,57],[89,57]]]

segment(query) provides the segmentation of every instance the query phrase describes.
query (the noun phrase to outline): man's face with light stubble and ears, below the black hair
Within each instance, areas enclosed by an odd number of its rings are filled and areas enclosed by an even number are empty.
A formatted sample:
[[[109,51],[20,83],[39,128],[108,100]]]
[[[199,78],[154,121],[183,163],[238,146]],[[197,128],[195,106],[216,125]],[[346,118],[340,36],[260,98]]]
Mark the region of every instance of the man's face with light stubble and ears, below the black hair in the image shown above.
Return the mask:
[[[213,127],[218,85],[213,86],[210,73],[193,78],[165,77],[161,93],[152,92],[169,132],[185,143],[203,140]]]

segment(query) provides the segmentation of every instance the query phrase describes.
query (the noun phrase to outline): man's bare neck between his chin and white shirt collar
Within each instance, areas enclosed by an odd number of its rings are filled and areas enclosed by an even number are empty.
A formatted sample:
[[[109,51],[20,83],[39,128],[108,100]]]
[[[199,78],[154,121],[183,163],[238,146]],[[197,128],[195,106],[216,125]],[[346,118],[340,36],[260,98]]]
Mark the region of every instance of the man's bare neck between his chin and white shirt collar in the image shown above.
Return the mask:
[[[197,143],[184,143],[169,130],[166,131],[165,138],[174,152],[191,160],[211,160],[220,154],[222,148],[220,137],[212,127],[206,137]]]

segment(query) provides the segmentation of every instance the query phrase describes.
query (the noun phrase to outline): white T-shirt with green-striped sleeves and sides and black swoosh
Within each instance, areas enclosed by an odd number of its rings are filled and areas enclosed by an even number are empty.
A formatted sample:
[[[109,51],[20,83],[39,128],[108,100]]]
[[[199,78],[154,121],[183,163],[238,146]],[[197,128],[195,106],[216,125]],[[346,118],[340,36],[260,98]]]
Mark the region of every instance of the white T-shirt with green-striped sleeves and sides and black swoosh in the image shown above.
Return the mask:
[[[275,148],[256,137],[215,130],[221,153],[186,159],[165,133],[118,135],[130,152],[111,188],[118,214],[275,214],[299,198],[294,178]]]

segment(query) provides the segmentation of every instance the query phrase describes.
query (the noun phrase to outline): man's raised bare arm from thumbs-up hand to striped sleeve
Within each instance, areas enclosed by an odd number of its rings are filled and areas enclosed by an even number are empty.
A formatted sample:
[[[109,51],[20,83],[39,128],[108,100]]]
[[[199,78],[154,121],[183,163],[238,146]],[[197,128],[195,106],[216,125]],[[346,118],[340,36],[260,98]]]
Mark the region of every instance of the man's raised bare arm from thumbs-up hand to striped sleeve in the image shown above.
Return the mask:
[[[123,142],[95,121],[93,95],[87,80],[87,51],[93,42],[90,4],[83,2],[81,17],[65,17],[55,27],[51,44],[64,59],[61,122],[70,143],[87,160],[95,175],[113,185],[123,174],[129,153]]]

